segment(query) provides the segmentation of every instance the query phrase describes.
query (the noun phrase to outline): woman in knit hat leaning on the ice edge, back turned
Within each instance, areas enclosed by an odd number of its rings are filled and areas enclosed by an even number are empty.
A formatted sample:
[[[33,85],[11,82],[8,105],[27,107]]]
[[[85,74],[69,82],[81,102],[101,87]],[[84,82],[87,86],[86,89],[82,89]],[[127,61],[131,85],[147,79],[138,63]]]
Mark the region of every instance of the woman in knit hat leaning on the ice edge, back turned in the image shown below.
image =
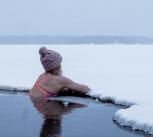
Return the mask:
[[[30,91],[30,96],[38,98],[48,98],[57,96],[63,89],[70,89],[86,94],[90,88],[62,76],[62,57],[56,51],[40,48],[40,61],[45,69]],[[67,90],[69,91],[69,90]]]

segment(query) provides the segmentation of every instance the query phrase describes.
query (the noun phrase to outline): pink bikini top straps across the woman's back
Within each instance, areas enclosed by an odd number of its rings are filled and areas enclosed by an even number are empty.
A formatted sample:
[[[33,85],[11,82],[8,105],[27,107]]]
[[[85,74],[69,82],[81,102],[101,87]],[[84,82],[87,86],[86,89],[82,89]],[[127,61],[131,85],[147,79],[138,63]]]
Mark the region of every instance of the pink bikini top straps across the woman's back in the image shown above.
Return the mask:
[[[44,93],[45,95],[45,98],[48,98],[48,97],[55,97],[57,96],[56,93],[51,93],[49,91],[47,91],[46,89],[44,89],[42,86],[41,86],[41,83],[46,81],[48,77],[43,77],[43,78],[40,78],[33,86],[33,88],[38,88],[42,93]]]

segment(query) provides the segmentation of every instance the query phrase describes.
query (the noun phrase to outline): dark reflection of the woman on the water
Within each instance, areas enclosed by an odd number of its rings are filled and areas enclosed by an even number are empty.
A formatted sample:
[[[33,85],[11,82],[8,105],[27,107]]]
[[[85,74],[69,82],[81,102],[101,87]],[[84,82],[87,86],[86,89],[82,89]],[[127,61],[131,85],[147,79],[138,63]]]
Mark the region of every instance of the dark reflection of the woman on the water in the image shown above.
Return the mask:
[[[31,101],[44,117],[40,137],[60,137],[62,116],[70,113],[73,109],[85,107],[85,105],[76,103],[67,105],[57,100],[31,98]]]

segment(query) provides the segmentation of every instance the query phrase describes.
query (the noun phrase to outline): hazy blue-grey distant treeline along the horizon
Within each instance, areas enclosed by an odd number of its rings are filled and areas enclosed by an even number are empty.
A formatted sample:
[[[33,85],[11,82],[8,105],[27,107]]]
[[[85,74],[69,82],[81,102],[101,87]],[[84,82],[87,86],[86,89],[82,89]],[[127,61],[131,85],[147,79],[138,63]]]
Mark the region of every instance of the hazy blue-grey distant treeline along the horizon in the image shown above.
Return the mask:
[[[0,44],[153,44],[152,37],[135,36],[0,36]]]

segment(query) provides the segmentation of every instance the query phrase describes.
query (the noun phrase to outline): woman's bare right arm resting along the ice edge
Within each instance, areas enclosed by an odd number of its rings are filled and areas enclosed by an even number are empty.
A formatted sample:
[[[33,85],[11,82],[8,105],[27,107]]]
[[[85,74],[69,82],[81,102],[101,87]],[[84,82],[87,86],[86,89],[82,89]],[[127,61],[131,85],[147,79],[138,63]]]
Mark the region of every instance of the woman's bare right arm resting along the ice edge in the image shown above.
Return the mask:
[[[63,77],[63,76],[61,77],[60,83],[62,84],[63,88],[68,88],[71,90],[79,91],[84,94],[86,94],[90,91],[90,88],[88,86],[76,83],[66,77]]]

